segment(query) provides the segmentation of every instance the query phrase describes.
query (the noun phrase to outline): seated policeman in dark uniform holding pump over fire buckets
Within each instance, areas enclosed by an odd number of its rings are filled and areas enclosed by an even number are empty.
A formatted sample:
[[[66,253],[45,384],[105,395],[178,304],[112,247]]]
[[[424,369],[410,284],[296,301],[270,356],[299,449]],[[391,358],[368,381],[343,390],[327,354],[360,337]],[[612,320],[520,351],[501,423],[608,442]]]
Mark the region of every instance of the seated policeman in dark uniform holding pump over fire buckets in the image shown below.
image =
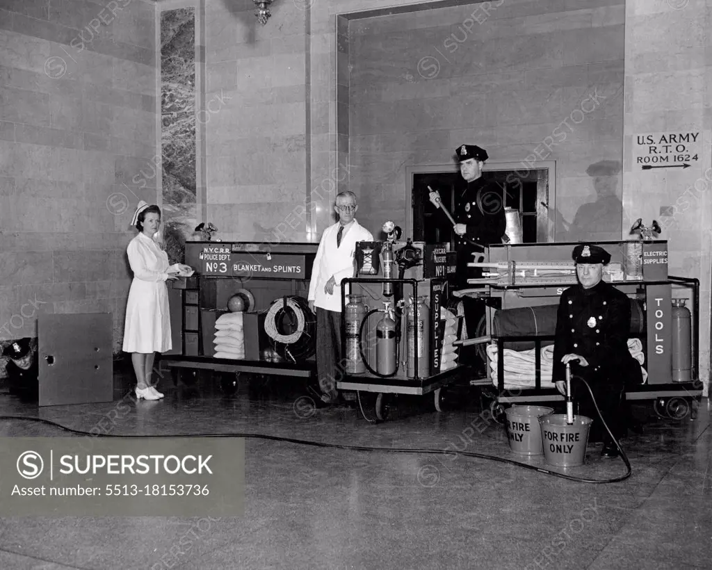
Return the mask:
[[[590,441],[603,440],[604,457],[616,457],[618,450],[603,428],[585,385],[591,387],[601,414],[613,436],[624,435],[622,406],[624,386],[640,383],[640,364],[628,349],[630,300],[623,292],[602,280],[603,266],[611,255],[598,246],[582,243],[573,250],[579,281],[561,295],[557,312],[553,380],[565,394],[565,364],[571,363],[572,394],[582,416],[593,419]]]

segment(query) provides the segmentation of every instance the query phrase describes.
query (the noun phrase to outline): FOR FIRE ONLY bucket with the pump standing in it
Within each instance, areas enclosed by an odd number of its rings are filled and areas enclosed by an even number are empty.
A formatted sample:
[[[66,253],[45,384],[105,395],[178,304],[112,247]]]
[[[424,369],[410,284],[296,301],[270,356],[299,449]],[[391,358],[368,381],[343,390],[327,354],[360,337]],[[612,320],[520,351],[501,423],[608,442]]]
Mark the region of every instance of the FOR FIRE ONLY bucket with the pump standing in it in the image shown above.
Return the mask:
[[[557,467],[578,467],[585,463],[591,418],[574,416],[574,423],[569,426],[565,413],[553,413],[539,418],[539,423],[546,463]]]

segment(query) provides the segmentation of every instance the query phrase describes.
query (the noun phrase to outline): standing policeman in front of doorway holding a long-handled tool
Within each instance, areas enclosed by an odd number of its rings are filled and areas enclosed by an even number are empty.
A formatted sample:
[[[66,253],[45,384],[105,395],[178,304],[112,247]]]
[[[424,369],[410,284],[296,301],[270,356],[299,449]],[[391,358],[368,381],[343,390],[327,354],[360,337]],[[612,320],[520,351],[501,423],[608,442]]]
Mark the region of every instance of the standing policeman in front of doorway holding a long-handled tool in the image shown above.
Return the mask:
[[[442,204],[438,191],[430,189],[430,201],[442,209],[453,225],[456,234],[458,286],[468,288],[468,279],[481,277],[478,268],[468,268],[475,261],[473,254],[480,254],[491,243],[508,241],[507,222],[504,214],[502,190],[482,177],[482,169],[489,158],[487,151],[473,144],[463,144],[456,149],[460,162],[460,174],[465,181],[464,189],[456,190],[454,217]],[[468,337],[474,337],[478,321],[484,315],[484,307],[471,297],[463,297]],[[464,361],[461,359],[461,364]],[[471,363],[470,363],[471,364]]]

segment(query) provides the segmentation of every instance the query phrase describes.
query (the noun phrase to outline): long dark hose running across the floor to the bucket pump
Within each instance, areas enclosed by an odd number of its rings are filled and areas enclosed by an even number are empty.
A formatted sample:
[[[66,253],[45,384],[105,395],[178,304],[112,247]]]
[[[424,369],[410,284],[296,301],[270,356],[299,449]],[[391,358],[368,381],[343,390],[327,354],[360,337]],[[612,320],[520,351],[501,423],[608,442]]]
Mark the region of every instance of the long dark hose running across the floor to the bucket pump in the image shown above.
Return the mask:
[[[604,428],[606,428],[606,431],[608,432],[609,436],[611,436],[612,440],[616,444],[616,447],[618,448],[621,458],[626,465],[627,472],[624,475],[621,475],[619,477],[614,477],[612,479],[587,479],[585,477],[574,477],[573,475],[566,475],[565,473],[557,473],[556,471],[551,471],[551,470],[548,470],[545,468],[536,467],[535,465],[528,465],[526,463],[520,463],[515,460],[497,457],[496,455],[486,455],[484,453],[475,453],[473,451],[448,450],[447,452],[445,452],[444,450],[440,450],[440,449],[377,448],[377,447],[370,447],[367,445],[342,445],[339,443],[324,443],[321,441],[302,440],[302,439],[295,439],[295,438],[284,438],[281,436],[267,436],[266,434],[263,434],[263,433],[179,433],[179,434],[174,434],[174,435],[161,434],[161,435],[156,435],[156,436],[145,436],[145,435],[125,436],[125,435],[120,435],[120,434],[115,434],[115,433],[95,434],[95,433],[90,433],[88,431],[75,430],[73,428],[67,428],[66,426],[62,426],[61,423],[56,423],[54,421],[46,420],[44,418],[32,418],[32,417],[23,417],[23,416],[0,416],[0,420],[20,420],[20,421],[32,421],[32,422],[37,422],[37,423],[46,423],[48,426],[54,426],[56,428],[61,428],[63,431],[68,431],[69,433],[75,433],[78,436],[90,436],[93,438],[95,438],[95,437],[96,438],[254,438],[254,439],[266,439],[266,440],[272,440],[272,441],[284,441],[287,443],[296,443],[298,445],[311,445],[313,447],[318,447],[318,448],[334,448],[334,449],[343,449],[343,450],[350,450],[350,451],[384,451],[387,453],[413,453],[413,454],[426,454],[426,455],[444,455],[445,453],[455,453],[456,455],[462,455],[464,457],[487,459],[487,460],[491,460],[491,461],[497,461],[498,463],[507,463],[508,465],[517,465],[518,467],[523,467],[525,469],[532,470],[532,471],[538,471],[539,473],[544,473],[545,475],[552,475],[553,477],[560,477],[561,479],[566,479],[569,481],[575,481],[575,482],[581,482],[581,483],[602,484],[602,483],[615,483],[615,482],[620,482],[620,481],[626,480],[632,474],[632,468],[630,465],[630,461],[628,460],[628,456],[625,454],[620,443],[618,443],[618,440],[616,438],[614,438],[613,434],[611,433],[610,429],[608,428],[607,423],[603,419],[603,416],[601,415],[601,411],[598,408],[598,404],[596,403],[596,399],[593,397],[593,391],[591,390],[591,387],[588,385],[587,381],[582,379],[580,376],[573,376],[573,377],[582,381],[586,385],[586,388],[588,389],[589,393],[591,394],[591,399],[593,401],[593,405],[596,408],[596,412],[598,413],[598,417],[601,419],[601,423],[603,424]]]

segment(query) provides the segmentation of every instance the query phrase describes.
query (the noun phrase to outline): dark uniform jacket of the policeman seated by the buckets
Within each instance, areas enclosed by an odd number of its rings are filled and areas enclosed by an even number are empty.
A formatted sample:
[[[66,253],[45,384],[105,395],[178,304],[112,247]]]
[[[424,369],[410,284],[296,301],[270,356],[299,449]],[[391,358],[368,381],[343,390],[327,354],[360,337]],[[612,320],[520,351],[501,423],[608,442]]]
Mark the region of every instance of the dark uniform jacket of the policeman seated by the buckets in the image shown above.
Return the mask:
[[[616,386],[640,384],[640,364],[628,349],[630,317],[629,298],[609,283],[565,290],[557,312],[553,381],[566,379],[561,359],[573,353],[588,361],[588,366],[572,365],[574,374]]]

